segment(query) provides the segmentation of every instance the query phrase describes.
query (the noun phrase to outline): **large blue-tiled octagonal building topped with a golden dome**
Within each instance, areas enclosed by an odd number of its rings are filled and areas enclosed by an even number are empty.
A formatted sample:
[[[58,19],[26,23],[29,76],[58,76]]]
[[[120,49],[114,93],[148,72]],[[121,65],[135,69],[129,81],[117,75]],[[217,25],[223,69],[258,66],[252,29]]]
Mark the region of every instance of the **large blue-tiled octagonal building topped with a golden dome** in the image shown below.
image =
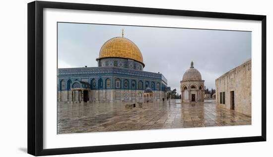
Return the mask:
[[[147,88],[153,93],[151,101],[166,99],[167,79],[143,71],[141,51],[123,32],[102,45],[96,60],[98,67],[58,69],[58,101],[138,102]]]

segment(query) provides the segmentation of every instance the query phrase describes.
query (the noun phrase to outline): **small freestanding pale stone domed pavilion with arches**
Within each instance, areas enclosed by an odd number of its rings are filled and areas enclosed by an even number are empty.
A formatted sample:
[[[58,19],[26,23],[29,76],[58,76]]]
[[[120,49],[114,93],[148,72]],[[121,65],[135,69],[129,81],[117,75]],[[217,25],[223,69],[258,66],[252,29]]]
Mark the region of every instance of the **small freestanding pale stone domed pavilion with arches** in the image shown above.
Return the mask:
[[[180,81],[181,101],[189,102],[204,102],[204,82],[200,72],[194,68],[192,61],[190,69],[188,69],[183,79]]]

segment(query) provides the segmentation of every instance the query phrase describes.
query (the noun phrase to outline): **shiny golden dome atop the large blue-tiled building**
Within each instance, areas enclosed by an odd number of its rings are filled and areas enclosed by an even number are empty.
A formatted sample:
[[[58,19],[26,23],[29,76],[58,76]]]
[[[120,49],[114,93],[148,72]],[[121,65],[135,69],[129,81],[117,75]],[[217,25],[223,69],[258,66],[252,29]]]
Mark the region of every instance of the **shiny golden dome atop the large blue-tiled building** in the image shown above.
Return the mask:
[[[124,37],[109,39],[102,45],[97,60],[106,57],[133,59],[142,63],[144,66],[142,54],[136,44],[130,39]]]

